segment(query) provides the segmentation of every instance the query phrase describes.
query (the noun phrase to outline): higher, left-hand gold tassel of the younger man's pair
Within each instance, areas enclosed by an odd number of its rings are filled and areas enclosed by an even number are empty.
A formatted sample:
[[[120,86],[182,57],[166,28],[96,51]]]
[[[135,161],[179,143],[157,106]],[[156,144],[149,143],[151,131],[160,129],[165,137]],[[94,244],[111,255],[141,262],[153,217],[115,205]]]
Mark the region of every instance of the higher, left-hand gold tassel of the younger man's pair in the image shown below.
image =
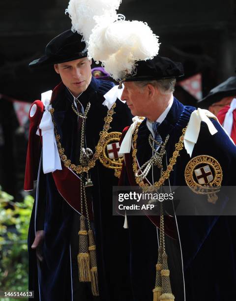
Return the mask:
[[[88,232],[85,226],[84,215],[80,216],[79,254],[77,256],[77,262],[80,282],[90,282],[91,275],[89,267]]]

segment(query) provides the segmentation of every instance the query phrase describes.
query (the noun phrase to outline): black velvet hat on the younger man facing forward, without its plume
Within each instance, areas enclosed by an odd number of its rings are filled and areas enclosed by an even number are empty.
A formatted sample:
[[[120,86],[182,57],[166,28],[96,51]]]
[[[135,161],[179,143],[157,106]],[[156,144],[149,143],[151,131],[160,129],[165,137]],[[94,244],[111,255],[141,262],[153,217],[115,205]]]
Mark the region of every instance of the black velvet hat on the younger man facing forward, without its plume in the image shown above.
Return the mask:
[[[45,48],[45,55],[33,60],[29,67],[53,65],[70,60],[87,57],[86,44],[82,42],[82,35],[66,30],[53,38]]]

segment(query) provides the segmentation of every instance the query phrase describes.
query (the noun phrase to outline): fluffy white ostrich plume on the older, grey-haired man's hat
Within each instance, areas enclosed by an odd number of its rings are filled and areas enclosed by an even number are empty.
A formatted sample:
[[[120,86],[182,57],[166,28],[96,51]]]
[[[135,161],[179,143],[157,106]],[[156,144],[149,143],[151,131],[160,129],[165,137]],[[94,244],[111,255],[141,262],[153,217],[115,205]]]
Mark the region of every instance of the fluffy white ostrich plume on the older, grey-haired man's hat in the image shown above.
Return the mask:
[[[105,70],[115,80],[135,73],[135,62],[152,59],[158,54],[159,42],[141,21],[118,20],[100,22],[89,38],[88,57],[101,61]]]

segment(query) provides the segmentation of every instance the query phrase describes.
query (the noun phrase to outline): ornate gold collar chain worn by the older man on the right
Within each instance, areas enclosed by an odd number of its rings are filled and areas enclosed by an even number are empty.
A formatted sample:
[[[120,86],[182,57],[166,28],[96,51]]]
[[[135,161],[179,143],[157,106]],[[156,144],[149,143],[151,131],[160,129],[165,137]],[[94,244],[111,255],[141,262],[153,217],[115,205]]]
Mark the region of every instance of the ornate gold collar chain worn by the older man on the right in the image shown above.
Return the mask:
[[[142,181],[141,179],[136,177],[136,174],[138,172],[138,163],[137,163],[137,157],[136,157],[137,139],[138,139],[138,129],[139,129],[140,124],[141,124],[141,122],[138,122],[136,124],[134,136],[133,136],[133,152],[132,152],[133,171],[134,171],[136,183],[145,188],[145,187],[149,187],[148,183],[145,183],[144,181]],[[169,159],[169,165],[167,166],[167,169],[161,173],[161,177],[160,177],[159,181],[156,181],[154,183],[154,187],[159,188],[161,185],[164,184],[165,180],[169,179],[170,173],[173,171],[173,167],[177,162],[177,157],[179,156],[179,151],[181,151],[183,149],[183,139],[184,139],[184,134],[185,134],[186,128],[187,127],[182,129],[182,135],[180,136],[178,143],[176,143],[176,145],[175,145],[175,151],[173,152],[172,157]]]

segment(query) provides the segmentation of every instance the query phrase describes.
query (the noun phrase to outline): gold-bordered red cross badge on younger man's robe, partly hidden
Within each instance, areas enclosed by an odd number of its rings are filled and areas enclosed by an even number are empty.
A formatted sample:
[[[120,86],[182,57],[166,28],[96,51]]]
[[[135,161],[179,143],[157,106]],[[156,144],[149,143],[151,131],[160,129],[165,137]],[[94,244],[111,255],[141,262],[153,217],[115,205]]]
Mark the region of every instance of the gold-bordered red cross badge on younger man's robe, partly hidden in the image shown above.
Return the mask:
[[[115,176],[119,178],[123,156],[119,152],[120,132],[110,132],[100,139],[97,148],[101,149],[99,160],[103,166],[115,170]]]

